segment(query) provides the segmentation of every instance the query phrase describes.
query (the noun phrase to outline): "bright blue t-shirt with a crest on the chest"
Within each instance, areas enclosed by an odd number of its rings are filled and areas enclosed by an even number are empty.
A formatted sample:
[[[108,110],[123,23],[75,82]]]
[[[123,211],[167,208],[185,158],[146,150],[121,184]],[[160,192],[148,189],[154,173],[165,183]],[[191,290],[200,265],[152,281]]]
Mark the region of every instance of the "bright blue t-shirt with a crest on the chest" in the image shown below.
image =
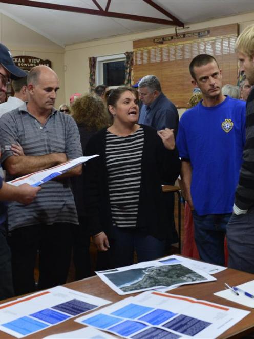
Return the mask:
[[[245,102],[227,96],[202,102],[181,117],[177,148],[190,161],[190,192],[198,215],[231,213],[245,144]]]

